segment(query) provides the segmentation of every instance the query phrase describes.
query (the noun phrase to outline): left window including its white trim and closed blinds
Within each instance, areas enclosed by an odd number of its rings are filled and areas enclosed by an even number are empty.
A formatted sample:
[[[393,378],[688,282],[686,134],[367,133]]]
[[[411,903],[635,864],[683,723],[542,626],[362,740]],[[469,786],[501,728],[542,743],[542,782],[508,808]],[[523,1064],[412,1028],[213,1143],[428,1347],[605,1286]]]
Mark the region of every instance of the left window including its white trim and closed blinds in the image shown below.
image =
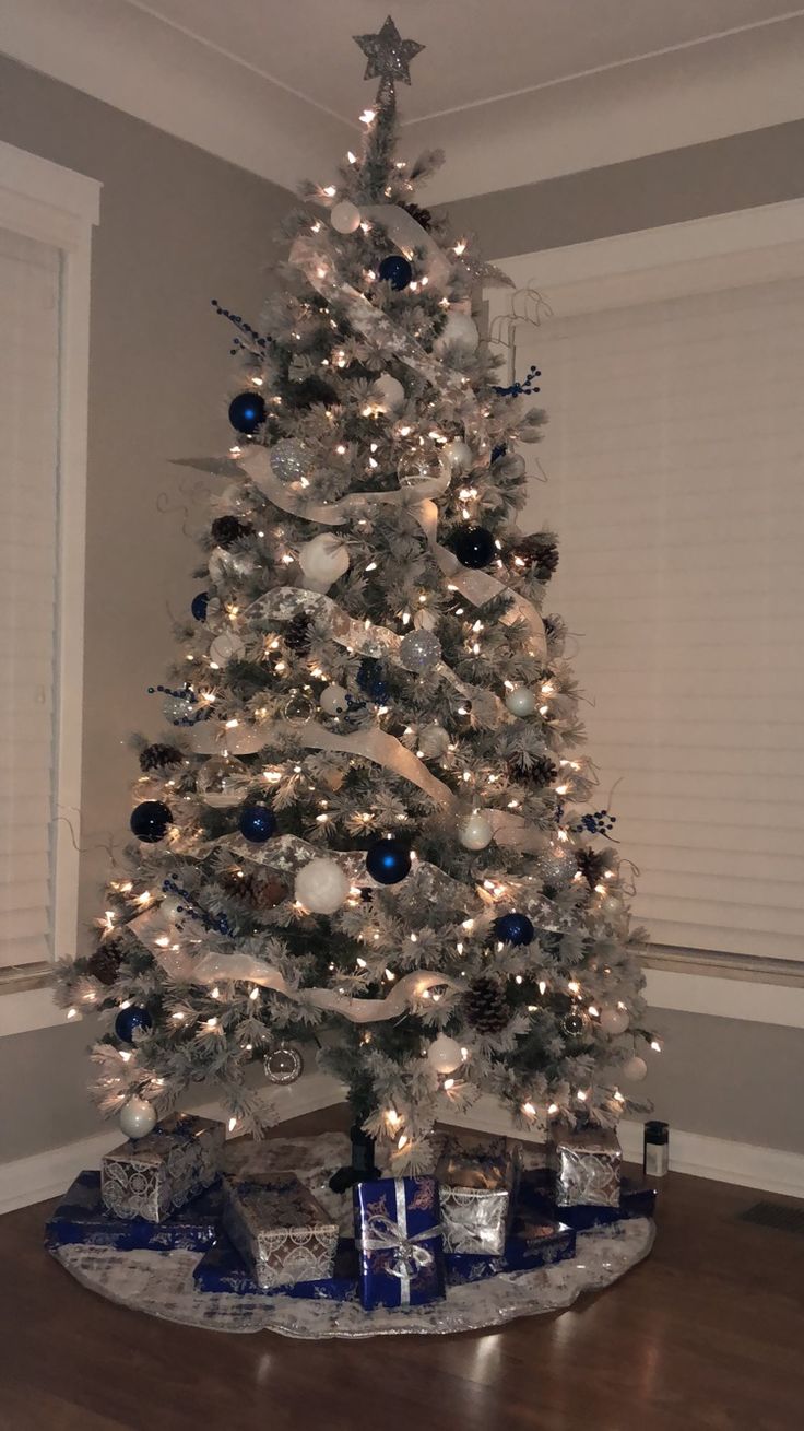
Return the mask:
[[[0,145],[3,1032],[50,1022],[47,990],[40,999],[30,987],[6,990],[43,982],[76,939],[89,258],[97,207],[94,180]]]

